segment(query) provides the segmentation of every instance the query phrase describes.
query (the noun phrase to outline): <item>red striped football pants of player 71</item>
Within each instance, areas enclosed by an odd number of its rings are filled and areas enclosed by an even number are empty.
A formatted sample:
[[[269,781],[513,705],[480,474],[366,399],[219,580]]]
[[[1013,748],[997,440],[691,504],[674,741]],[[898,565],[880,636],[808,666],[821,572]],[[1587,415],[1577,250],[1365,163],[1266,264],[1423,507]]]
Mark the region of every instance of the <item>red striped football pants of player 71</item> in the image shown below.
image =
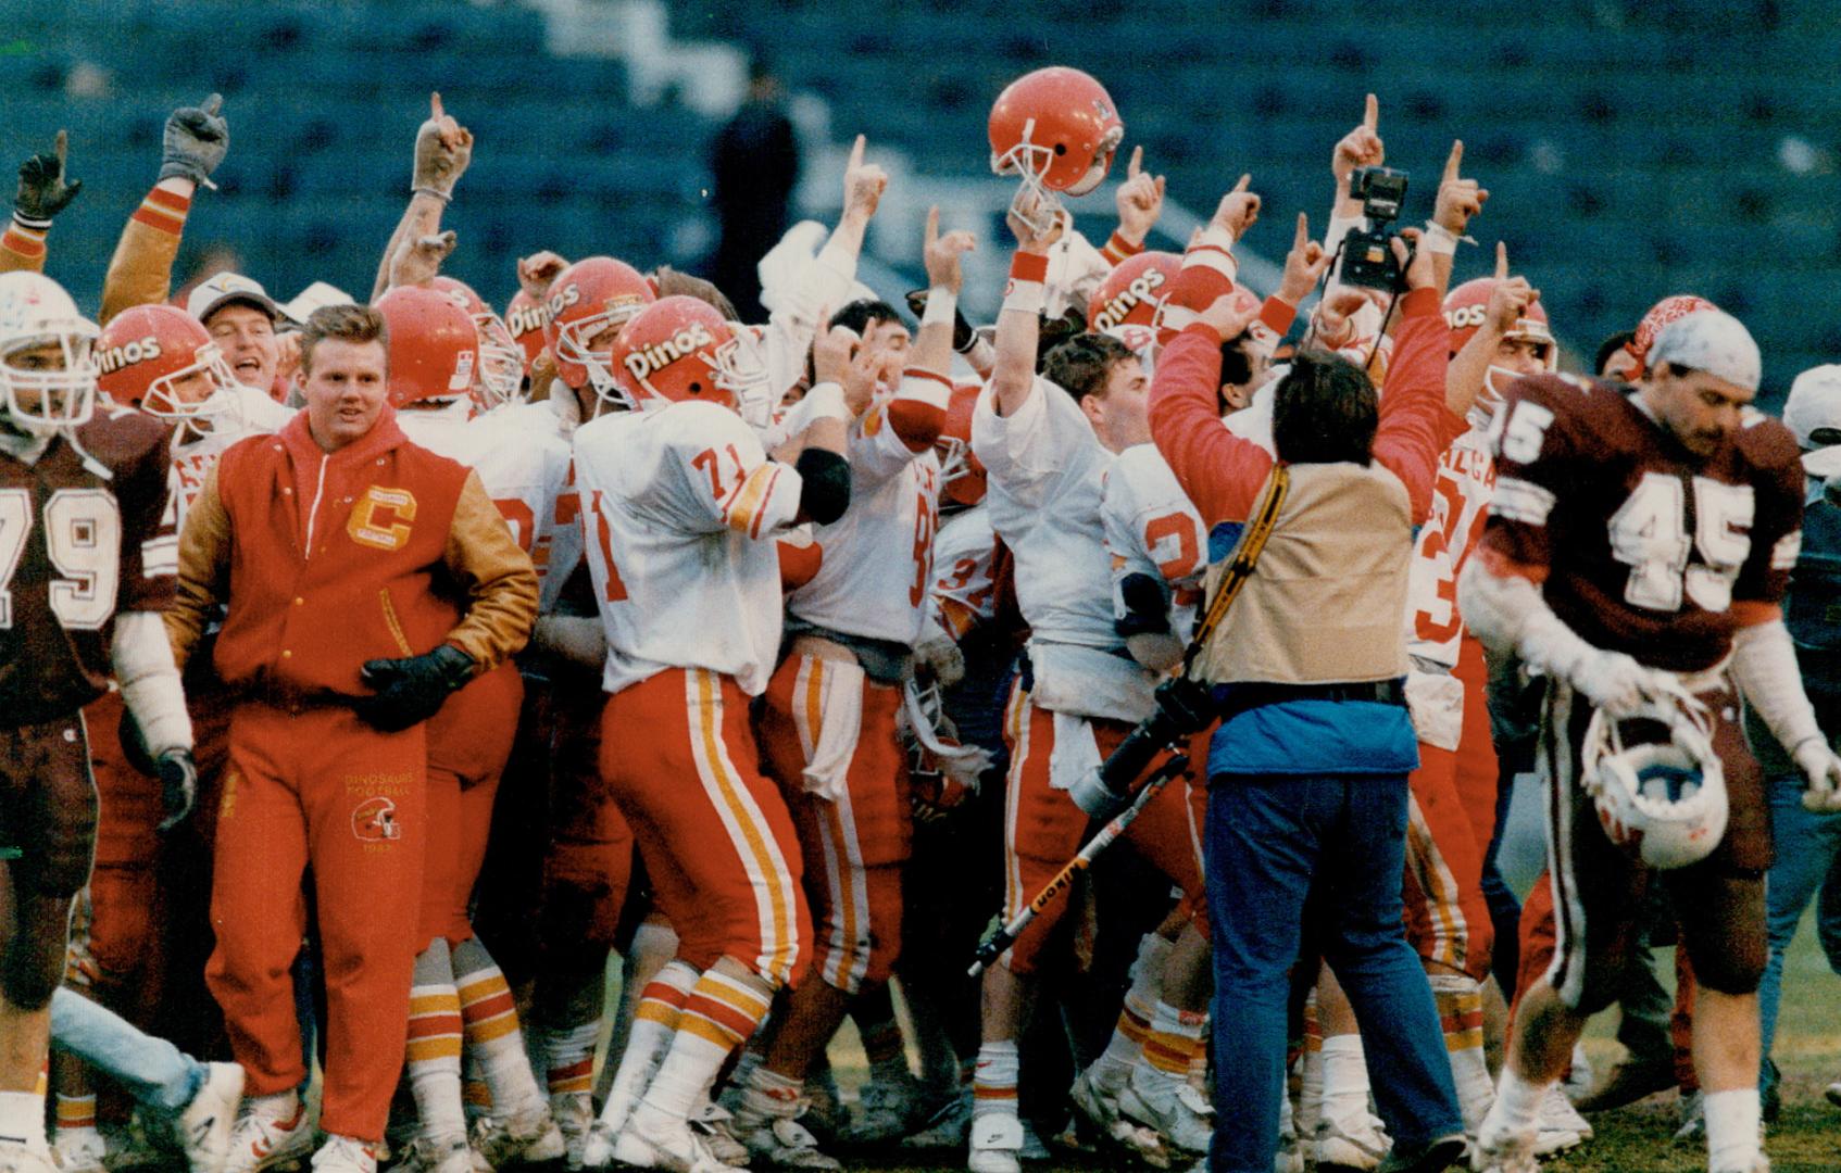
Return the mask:
[[[626,813],[677,956],[792,985],[810,958],[799,838],[760,772],[733,677],[668,667],[608,697],[600,772]]]

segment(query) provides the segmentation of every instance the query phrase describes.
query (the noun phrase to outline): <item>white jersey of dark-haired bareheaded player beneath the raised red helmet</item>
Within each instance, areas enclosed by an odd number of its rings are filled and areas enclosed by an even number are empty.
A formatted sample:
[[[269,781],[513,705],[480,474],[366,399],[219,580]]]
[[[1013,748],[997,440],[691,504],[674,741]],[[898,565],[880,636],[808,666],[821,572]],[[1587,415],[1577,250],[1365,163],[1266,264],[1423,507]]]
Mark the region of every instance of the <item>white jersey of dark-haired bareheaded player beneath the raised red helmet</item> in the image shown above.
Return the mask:
[[[1112,568],[1099,517],[1114,454],[1073,397],[1042,377],[1009,417],[998,416],[996,395],[985,388],[972,412],[972,452],[989,474],[990,526],[1016,559],[1036,704],[1140,721],[1152,682],[1112,625]]]

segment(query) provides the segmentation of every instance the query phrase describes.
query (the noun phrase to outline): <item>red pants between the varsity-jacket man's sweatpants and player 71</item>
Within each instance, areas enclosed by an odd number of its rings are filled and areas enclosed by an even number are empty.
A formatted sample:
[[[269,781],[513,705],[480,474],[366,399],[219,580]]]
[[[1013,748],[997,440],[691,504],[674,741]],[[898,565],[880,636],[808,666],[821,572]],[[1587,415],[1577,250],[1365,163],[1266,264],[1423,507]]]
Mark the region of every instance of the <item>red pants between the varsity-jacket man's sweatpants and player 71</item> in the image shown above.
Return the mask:
[[[486,862],[492,802],[523,704],[525,678],[506,660],[469,680],[429,719],[429,853],[416,934],[422,949],[434,938],[458,945],[473,936],[468,906]]]

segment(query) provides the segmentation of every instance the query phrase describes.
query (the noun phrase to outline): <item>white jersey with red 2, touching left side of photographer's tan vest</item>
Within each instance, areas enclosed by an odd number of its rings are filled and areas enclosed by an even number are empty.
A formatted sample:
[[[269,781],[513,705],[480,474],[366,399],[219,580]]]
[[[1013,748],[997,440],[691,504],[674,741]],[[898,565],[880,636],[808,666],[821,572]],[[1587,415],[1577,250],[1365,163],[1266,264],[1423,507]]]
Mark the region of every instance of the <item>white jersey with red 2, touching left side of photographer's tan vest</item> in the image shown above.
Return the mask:
[[[1156,445],[1134,445],[1112,461],[1101,517],[1112,555],[1112,616],[1127,614],[1125,577],[1151,575],[1169,590],[1171,636],[1187,643],[1208,570],[1208,528]]]

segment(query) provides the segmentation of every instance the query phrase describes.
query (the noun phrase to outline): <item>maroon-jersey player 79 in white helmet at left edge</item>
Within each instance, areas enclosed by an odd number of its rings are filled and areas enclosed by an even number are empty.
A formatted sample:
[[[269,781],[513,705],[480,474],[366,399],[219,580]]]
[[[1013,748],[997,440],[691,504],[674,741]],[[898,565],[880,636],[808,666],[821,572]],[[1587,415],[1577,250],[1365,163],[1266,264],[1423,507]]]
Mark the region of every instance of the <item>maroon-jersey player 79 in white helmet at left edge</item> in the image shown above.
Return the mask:
[[[11,910],[0,940],[0,1166],[52,1167],[42,1070],[70,901],[88,879],[96,787],[79,708],[112,673],[162,783],[191,811],[191,721],[160,625],[177,537],[166,425],[96,410],[98,329],[55,281],[0,274],[0,761]]]

